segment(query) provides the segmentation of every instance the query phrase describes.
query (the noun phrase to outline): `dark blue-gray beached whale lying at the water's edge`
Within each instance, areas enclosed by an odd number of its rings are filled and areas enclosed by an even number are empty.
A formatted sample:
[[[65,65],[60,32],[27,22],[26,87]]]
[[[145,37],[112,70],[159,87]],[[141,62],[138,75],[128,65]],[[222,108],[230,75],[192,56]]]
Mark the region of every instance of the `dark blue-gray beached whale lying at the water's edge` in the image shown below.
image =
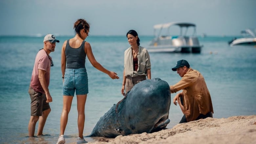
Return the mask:
[[[100,117],[87,137],[153,133],[170,122],[170,88],[160,78],[136,84],[126,96]]]

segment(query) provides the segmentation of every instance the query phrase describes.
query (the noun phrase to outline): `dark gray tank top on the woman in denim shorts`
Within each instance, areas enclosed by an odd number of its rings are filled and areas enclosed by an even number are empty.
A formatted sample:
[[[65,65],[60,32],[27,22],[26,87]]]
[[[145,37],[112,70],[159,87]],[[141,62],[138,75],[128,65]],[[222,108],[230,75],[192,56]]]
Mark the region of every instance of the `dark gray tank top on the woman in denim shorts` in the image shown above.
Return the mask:
[[[69,45],[69,40],[67,41],[65,49],[67,62],[66,69],[85,68],[86,53],[84,51],[84,43],[85,41],[82,42],[79,48],[74,49]]]

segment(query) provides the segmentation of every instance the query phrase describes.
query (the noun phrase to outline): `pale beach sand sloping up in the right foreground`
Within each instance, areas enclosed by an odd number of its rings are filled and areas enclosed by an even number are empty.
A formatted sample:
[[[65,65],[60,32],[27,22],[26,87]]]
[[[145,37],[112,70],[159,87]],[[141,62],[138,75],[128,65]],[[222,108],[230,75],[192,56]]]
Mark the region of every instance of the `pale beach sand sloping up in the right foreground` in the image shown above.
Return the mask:
[[[100,138],[93,144],[251,144],[256,143],[256,115],[206,118],[177,124],[152,134],[130,134]]]

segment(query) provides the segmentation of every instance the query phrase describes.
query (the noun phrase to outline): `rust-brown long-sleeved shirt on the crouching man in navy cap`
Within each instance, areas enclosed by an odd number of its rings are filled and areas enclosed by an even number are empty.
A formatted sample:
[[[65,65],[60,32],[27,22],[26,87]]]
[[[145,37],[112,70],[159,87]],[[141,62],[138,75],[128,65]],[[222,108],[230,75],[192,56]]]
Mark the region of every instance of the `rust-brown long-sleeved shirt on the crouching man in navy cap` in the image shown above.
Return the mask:
[[[210,92],[206,86],[203,75],[197,70],[189,68],[181,80],[170,86],[171,93],[182,91],[183,106],[186,120],[193,121],[202,114],[213,113]]]

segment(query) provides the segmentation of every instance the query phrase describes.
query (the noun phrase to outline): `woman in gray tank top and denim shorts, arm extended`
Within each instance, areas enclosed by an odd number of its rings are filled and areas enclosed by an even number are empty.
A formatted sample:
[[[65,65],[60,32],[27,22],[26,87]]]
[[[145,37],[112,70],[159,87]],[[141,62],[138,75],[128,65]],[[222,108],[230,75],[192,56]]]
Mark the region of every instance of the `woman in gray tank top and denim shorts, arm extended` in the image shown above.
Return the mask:
[[[86,55],[91,64],[112,79],[119,79],[116,72],[111,72],[99,64],[92,52],[90,43],[84,41],[88,36],[90,25],[84,19],[74,24],[75,37],[66,40],[61,50],[61,72],[63,79],[63,110],[60,117],[60,135],[57,144],[65,143],[64,131],[68,122],[74,94],[77,97],[78,137],[77,143],[86,143],[83,138],[85,121],[85,102],[88,93],[88,77],[85,68]]]

